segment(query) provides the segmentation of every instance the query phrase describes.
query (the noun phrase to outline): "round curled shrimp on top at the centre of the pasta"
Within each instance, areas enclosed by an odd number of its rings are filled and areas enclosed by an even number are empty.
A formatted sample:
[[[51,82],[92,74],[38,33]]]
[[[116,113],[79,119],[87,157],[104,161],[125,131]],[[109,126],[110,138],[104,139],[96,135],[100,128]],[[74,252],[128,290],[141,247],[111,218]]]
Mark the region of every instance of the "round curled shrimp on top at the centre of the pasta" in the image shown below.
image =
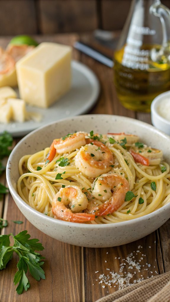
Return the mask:
[[[76,154],[75,165],[80,172],[93,178],[110,171],[114,159],[112,152],[103,143],[90,141]]]

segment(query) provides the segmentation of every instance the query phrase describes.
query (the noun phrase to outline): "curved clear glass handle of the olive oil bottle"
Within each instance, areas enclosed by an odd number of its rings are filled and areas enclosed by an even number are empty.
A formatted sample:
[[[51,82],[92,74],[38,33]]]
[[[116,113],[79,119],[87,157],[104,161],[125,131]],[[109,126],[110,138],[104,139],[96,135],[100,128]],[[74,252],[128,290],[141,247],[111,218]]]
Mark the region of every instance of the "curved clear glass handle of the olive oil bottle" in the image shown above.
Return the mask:
[[[162,46],[166,46],[170,42],[170,10],[158,1],[150,6],[149,12],[160,18],[163,36]]]

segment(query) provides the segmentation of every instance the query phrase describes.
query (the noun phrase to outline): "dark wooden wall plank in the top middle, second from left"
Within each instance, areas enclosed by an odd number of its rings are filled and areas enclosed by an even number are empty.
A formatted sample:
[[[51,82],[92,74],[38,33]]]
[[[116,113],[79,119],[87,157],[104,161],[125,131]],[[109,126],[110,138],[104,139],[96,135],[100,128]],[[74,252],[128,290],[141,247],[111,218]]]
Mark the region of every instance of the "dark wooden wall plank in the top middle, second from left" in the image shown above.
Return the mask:
[[[41,0],[39,14],[42,34],[92,31],[97,28],[95,0]]]

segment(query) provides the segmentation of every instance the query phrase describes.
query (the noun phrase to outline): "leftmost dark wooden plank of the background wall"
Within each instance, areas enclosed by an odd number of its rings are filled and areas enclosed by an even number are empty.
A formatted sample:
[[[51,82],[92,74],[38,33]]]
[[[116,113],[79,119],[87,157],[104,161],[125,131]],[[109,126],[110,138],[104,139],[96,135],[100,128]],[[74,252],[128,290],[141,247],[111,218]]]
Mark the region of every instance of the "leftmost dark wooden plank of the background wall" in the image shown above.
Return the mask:
[[[37,32],[34,0],[0,1],[0,35]]]

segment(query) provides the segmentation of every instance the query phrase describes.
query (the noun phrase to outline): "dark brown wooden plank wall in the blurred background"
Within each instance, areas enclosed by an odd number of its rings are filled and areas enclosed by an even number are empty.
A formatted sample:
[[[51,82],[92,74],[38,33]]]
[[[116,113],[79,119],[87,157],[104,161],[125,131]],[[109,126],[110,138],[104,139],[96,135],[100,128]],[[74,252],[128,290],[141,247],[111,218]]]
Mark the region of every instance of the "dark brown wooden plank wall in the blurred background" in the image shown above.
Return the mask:
[[[0,0],[0,35],[121,30],[131,0]],[[170,8],[170,1],[162,3]]]

